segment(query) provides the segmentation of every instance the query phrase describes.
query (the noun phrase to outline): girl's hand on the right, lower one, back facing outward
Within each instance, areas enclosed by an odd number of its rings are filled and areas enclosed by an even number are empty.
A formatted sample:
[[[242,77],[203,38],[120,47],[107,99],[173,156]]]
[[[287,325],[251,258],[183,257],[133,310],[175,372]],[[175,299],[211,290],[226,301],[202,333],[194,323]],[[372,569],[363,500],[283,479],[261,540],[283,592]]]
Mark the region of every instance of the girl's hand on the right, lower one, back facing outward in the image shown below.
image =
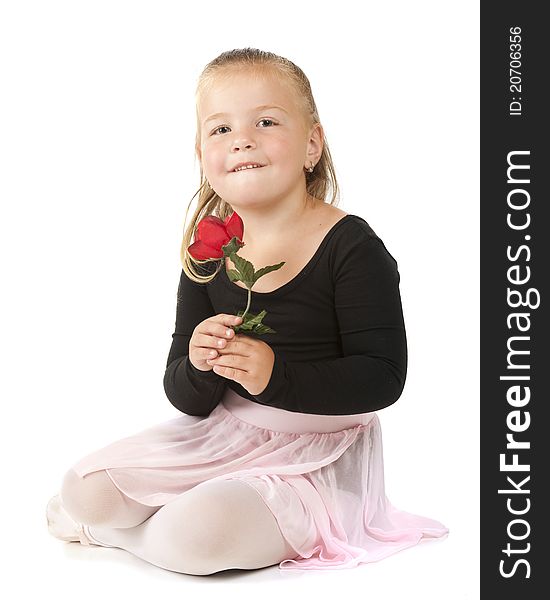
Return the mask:
[[[215,373],[240,383],[253,396],[265,390],[275,363],[275,354],[265,342],[238,333],[219,354],[206,361]]]

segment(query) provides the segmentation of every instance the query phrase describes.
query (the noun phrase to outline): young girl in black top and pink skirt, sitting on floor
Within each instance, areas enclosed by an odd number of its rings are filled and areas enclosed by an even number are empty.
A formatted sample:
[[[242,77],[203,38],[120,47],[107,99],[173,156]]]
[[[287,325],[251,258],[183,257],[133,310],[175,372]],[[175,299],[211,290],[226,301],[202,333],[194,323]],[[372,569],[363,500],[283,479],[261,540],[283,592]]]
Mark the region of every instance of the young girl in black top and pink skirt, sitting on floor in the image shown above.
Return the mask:
[[[399,274],[368,223],[334,206],[307,77],[270,52],[232,50],[206,66],[196,100],[201,186],[164,375],[182,414],[74,464],[48,503],[50,532],[195,575],[349,568],[443,536],[385,496],[376,411],[405,382]],[[274,333],[235,333],[246,286],[229,257],[188,250],[205,216],[234,212],[239,256],[256,269],[284,261],[249,307]]]

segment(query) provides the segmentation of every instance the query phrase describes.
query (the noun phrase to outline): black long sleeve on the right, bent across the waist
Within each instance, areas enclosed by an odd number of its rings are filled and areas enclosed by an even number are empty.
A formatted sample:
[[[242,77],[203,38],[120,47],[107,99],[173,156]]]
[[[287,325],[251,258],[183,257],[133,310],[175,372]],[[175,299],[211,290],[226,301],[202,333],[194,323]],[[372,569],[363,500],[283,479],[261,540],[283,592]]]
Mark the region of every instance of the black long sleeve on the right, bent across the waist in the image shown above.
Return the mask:
[[[333,265],[342,357],[286,361],[275,352],[257,402],[294,412],[346,415],[372,412],[401,395],[407,341],[397,263],[378,237],[366,237]]]

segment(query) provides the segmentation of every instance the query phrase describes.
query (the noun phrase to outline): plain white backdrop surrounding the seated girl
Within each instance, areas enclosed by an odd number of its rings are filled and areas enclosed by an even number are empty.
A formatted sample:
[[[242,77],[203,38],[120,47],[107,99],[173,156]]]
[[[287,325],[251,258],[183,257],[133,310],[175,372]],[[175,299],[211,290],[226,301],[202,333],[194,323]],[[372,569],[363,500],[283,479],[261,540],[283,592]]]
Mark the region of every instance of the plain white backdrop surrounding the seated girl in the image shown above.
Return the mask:
[[[472,1],[1,4],[9,597],[478,597],[478,13]],[[179,414],[162,378],[199,184],[194,89],[208,61],[245,46],[308,75],[339,207],[370,223],[401,274],[409,370],[380,413],[386,489],[450,535],[356,569],[201,578],[47,532],[69,466]]]

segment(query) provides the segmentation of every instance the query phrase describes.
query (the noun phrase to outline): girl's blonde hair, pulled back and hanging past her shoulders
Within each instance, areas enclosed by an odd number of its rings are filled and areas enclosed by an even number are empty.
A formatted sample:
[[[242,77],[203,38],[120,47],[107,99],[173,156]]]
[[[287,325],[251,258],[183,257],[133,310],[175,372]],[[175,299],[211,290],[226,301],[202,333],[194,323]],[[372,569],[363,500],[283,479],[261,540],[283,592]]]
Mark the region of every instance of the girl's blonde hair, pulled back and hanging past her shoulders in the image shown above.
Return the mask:
[[[200,98],[201,94],[207,92],[209,87],[215,80],[217,80],[218,77],[223,77],[230,74],[228,73],[229,70],[231,70],[231,73],[234,73],[234,69],[241,71],[245,70],[247,72],[250,71],[252,76],[257,77],[262,77],[264,75],[273,73],[280,74],[282,76],[281,80],[293,87],[296,93],[296,98],[301,102],[304,112],[304,120],[307,127],[312,127],[314,124],[320,123],[319,113],[317,111],[317,106],[315,105],[315,100],[313,99],[313,93],[311,91],[311,85],[302,69],[282,56],[272,52],[257,50],[256,48],[228,50],[220,54],[214,60],[210,61],[199,76],[195,94],[196,100]],[[195,149],[200,149],[200,145],[201,128],[197,102],[197,130]],[[311,173],[304,172],[304,176],[306,178],[306,191],[310,196],[322,202],[327,202],[330,194],[331,198],[327,203],[333,206],[338,204],[340,195],[339,186],[336,180],[334,164],[332,162],[328,143],[325,137],[323,138],[323,150],[321,157],[315,165],[314,171]],[[180,260],[183,270],[189,279],[196,283],[207,283],[214,279],[220,268],[225,268],[224,261],[221,260],[219,262],[218,268],[215,270],[215,272],[211,272],[209,269],[207,271],[209,274],[203,276],[201,275],[199,265],[211,263],[213,261],[197,261],[189,254],[187,249],[193,243],[197,224],[204,217],[213,215],[223,221],[233,212],[233,209],[210,187],[204,176],[201,165],[200,186],[187,205],[185,222],[187,222],[189,208],[197,194],[197,208],[193,214],[191,222],[185,228],[183,234],[183,241],[180,249]],[[195,270],[195,267],[199,270],[199,272]]]

